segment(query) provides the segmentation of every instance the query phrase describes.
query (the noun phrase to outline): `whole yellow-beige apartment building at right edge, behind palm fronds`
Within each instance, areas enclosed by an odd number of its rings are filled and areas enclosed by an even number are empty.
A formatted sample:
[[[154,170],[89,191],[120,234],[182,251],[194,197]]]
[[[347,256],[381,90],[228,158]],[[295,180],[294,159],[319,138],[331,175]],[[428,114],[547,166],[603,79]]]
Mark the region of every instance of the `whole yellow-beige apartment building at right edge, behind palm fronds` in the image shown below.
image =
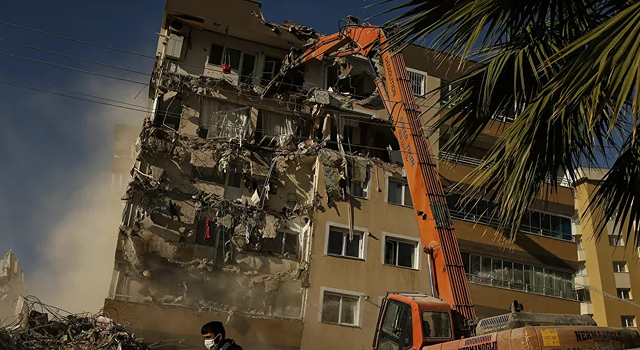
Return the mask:
[[[581,264],[575,276],[580,312],[591,315],[598,326],[637,328],[640,304],[634,297],[640,293],[639,251],[625,246],[626,230],[618,235],[612,222],[604,236],[596,239],[596,220],[591,218],[598,218],[598,212],[588,208],[589,195],[607,171],[582,168],[575,184],[575,205],[580,214],[585,214],[575,232]]]

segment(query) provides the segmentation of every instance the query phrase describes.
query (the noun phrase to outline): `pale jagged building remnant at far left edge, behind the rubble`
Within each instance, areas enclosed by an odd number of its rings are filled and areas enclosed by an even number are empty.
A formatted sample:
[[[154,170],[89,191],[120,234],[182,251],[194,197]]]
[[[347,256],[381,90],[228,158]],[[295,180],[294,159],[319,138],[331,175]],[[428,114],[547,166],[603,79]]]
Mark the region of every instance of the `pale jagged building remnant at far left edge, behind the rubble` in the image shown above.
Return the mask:
[[[19,320],[27,296],[24,272],[12,251],[0,260],[0,327]]]

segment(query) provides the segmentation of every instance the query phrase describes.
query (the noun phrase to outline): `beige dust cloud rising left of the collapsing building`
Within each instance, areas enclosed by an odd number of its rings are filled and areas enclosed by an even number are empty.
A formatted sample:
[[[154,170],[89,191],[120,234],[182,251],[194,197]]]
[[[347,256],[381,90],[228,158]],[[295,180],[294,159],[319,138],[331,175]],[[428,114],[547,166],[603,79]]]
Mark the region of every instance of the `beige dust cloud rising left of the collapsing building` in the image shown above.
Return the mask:
[[[146,90],[118,88],[85,81],[84,91],[145,105]],[[90,104],[78,118],[90,119],[77,130],[79,147],[88,147],[89,159],[65,171],[67,179],[42,196],[48,217],[35,250],[38,264],[27,271],[28,292],[43,303],[68,312],[99,312],[108,296],[113,271],[120,211],[114,211],[111,191],[115,125],[141,125],[144,113]],[[134,140],[131,140],[133,143]],[[116,193],[116,196],[122,193]],[[34,243],[35,244],[35,243]]]

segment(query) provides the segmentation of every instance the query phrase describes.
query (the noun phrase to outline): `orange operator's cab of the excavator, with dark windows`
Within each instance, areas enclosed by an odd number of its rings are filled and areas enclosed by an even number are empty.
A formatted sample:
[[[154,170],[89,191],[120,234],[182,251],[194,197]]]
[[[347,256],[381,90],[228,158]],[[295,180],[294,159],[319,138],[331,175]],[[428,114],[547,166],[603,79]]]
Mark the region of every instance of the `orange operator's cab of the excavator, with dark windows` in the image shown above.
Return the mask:
[[[420,292],[388,292],[382,299],[374,350],[422,349],[454,339],[451,307]]]

